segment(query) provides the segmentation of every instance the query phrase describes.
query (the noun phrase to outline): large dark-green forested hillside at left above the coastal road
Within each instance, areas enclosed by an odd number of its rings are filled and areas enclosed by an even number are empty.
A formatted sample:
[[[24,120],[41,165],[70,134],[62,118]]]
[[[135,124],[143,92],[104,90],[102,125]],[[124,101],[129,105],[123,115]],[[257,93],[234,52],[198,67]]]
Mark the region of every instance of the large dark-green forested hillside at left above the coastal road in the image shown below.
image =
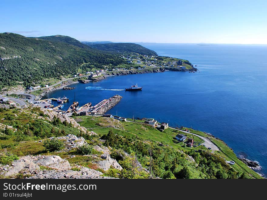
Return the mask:
[[[0,33],[0,89],[64,77],[76,73],[83,63],[101,68],[123,62],[117,55],[103,53],[67,36],[40,39]]]

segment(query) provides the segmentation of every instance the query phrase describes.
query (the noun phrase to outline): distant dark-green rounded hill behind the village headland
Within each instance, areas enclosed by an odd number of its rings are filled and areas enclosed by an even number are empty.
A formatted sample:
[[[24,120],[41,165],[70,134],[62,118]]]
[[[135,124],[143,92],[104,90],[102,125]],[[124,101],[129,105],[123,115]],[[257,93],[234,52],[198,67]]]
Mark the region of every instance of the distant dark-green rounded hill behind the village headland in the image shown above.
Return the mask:
[[[157,53],[134,43],[91,43],[83,42],[92,48],[113,53],[137,53],[140,55],[157,56]]]

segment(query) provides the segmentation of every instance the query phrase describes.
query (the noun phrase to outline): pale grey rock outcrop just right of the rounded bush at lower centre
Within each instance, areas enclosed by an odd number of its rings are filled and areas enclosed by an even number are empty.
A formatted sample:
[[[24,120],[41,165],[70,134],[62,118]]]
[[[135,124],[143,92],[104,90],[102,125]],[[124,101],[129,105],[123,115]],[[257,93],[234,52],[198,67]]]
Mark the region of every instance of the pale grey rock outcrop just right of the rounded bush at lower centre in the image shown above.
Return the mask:
[[[94,146],[94,149],[96,151],[103,152],[101,155],[101,159],[103,160],[97,162],[101,169],[107,171],[112,166],[115,169],[122,170],[120,164],[115,159],[110,157],[110,150],[107,147],[101,148],[100,146]]]

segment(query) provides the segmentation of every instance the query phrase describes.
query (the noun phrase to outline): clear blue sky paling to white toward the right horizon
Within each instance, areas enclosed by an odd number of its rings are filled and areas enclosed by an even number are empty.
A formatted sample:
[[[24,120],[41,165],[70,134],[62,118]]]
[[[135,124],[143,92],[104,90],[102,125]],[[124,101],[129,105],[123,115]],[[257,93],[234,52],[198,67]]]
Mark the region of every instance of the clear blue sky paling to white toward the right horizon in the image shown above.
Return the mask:
[[[80,41],[267,44],[267,1],[1,0],[0,32]]]

